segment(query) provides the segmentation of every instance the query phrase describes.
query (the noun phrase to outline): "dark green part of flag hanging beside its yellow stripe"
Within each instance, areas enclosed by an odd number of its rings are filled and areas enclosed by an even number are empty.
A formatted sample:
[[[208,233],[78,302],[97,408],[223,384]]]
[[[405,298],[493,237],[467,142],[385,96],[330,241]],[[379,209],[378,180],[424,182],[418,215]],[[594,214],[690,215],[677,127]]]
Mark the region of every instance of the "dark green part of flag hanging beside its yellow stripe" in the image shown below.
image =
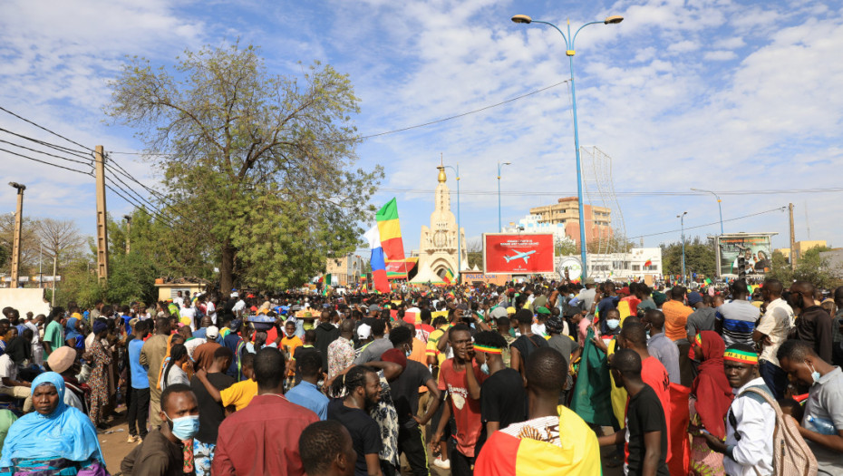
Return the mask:
[[[614,415],[609,383],[612,377],[606,367],[606,354],[591,342],[594,335],[594,330],[589,329],[579,364],[577,384],[574,386],[571,410],[587,423],[612,426]]]

